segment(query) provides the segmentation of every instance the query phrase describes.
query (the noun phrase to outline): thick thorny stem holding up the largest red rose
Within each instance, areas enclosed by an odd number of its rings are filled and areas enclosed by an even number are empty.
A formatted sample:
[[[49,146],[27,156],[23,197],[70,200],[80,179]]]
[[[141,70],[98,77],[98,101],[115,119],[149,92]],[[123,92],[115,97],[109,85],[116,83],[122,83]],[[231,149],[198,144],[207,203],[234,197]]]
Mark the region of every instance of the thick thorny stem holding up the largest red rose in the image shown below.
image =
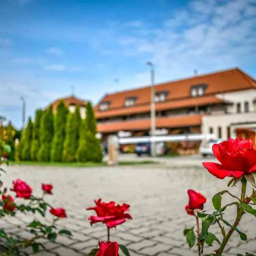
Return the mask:
[[[247,183],[247,180],[243,177],[241,179],[241,183],[242,183],[242,189],[241,189],[241,199],[240,199],[240,202],[243,203],[244,202],[244,198],[245,198],[245,193],[246,193],[246,183]],[[224,237],[224,239],[223,239],[223,241],[221,243],[221,247],[218,250],[217,256],[221,256],[222,255],[223,250],[224,250],[225,246],[227,245],[228,240],[230,239],[230,236],[233,234],[235,228],[238,226],[239,221],[242,218],[243,212],[244,212],[244,210],[240,206],[238,206],[237,207],[236,220],[235,220],[233,226],[231,227],[230,231],[227,233],[227,236]]]

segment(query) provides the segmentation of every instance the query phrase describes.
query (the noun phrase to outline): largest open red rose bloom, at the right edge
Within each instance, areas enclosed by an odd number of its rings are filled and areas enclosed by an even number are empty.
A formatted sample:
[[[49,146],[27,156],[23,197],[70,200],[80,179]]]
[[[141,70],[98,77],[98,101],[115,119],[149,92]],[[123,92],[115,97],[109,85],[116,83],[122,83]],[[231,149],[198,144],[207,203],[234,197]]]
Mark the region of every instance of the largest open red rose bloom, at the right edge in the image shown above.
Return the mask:
[[[228,139],[214,144],[212,151],[221,164],[204,162],[203,166],[219,179],[256,172],[256,149],[249,139]]]

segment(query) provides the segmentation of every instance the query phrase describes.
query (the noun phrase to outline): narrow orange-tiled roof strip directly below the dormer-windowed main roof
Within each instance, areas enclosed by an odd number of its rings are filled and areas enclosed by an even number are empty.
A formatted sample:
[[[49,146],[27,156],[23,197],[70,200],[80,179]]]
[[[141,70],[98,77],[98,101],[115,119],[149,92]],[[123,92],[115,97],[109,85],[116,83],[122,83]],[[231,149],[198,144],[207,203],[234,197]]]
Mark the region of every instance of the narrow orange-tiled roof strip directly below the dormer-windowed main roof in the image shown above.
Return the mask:
[[[174,109],[174,108],[186,108],[192,106],[203,106],[210,103],[220,103],[224,102],[217,98],[216,96],[204,96],[200,98],[189,98],[189,99],[181,99],[181,100],[173,100],[168,102],[158,102],[156,103],[155,107],[157,111],[167,110],[167,109]],[[134,106],[130,108],[119,108],[113,109],[110,111],[96,111],[95,116],[97,119],[105,118],[111,116],[122,116],[122,115],[129,115],[134,113],[144,113],[150,111],[150,105],[142,105],[142,106]]]

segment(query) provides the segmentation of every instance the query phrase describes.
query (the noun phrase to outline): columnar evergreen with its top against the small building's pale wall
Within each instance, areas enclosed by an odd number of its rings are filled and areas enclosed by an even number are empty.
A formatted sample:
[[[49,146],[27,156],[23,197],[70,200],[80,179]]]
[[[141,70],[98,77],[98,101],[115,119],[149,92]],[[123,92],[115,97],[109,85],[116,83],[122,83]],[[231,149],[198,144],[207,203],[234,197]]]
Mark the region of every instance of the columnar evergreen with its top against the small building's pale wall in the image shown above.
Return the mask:
[[[67,126],[66,126],[66,138],[64,141],[63,162],[75,162],[76,161],[76,123],[75,123],[75,114],[69,113],[67,116]]]

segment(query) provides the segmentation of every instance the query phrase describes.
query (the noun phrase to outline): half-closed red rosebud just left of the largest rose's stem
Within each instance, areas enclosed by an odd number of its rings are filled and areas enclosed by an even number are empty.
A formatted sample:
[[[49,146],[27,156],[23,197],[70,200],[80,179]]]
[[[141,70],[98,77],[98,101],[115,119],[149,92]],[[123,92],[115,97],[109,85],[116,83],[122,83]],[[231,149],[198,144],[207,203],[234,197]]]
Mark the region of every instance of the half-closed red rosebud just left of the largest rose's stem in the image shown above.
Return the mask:
[[[189,215],[195,215],[194,214],[195,209],[202,210],[204,208],[204,203],[206,202],[206,198],[202,194],[195,192],[192,189],[188,190],[188,194],[189,194],[189,204],[186,205],[185,209]]]

